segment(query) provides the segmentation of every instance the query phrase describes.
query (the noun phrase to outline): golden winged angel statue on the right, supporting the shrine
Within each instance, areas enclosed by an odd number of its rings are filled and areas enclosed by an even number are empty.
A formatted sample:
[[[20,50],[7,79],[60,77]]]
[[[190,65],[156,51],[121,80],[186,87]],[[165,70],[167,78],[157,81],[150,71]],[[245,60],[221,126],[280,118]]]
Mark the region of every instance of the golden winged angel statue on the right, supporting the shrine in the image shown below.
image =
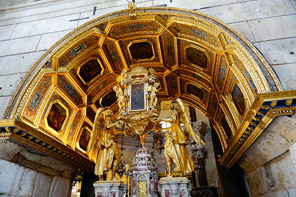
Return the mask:
[[[193,162],[186,148],[186,145],[189,142],[181,127],[181,123],[185,124],[187,131],[196,143],[198,143],[197,139],[199,139],[200,142],[205,145],[205,142],[203,142],[193,130],[182,100],[177,98],[176,101],[173,101],[172,103],[170,118],[157,118],[155,121],[155,123],[160,121],[171,123],[170,127],[160,129],[160,132],[163,130],[169,130],[169,132],[165,134],[165,159],[168,167],[167,178],[173,177],[173,161],[176,164],[174,170],[176,172],[181,172],[181,177],[185,176],[186,173],[194,171]]]

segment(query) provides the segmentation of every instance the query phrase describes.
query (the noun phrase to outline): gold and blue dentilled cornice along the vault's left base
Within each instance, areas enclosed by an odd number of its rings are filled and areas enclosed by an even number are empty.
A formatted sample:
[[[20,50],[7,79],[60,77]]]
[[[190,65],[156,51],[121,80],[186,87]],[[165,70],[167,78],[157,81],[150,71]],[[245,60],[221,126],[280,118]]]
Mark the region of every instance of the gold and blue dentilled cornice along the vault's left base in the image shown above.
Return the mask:
[[[2,119],[0,120],[0,128],[0,139],[9,139],[76,168],[94,173],[94,162],[78,154],[73,149],[57,143],[51,137],[19,119]]]

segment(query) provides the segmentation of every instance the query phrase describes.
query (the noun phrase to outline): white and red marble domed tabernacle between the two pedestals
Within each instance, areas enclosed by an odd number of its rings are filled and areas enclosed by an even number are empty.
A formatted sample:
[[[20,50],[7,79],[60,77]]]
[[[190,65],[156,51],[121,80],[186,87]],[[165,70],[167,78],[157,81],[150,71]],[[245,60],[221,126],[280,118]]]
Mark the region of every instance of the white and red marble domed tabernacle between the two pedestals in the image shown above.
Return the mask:
[[[157,197],[157,168],[149,149],[142,147],[133,158],[129,171],[129,197]]]

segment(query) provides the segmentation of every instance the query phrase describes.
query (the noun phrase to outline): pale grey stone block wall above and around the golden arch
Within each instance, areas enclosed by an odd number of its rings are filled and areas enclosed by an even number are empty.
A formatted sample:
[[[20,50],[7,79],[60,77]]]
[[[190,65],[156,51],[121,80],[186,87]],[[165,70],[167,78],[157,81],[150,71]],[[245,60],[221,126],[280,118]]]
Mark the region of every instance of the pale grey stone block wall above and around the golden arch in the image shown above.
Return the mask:
[[[24,75],[55,42],[96,17],[127,8],[126,0],[14,0],[0,4],[0,116]],[[296,52],[295,0],[136,0],[136,4],[195,9],[221,19],[258,47],[287,89],[295,88],[296,53],[290,54]]]

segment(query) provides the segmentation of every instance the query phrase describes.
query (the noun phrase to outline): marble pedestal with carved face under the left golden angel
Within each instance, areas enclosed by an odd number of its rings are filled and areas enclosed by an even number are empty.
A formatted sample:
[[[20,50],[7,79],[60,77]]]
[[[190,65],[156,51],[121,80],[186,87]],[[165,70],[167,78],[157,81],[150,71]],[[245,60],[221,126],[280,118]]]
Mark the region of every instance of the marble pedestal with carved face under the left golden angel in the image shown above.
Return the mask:
[[[123,197],[126,184],[120,180],[101,180],[94,183],[96,197]]]

